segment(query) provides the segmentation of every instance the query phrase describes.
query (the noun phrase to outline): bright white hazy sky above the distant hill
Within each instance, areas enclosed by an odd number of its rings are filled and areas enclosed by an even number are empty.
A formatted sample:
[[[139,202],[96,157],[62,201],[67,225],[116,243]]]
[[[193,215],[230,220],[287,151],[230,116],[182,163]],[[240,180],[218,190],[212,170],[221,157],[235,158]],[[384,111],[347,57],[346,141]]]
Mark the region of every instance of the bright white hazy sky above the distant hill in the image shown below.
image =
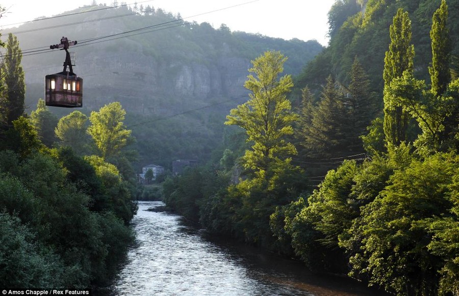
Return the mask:
[[[113,5],[113,2],[114,0],[96,0],[97,4]],[[133,7],[136,0],[117,2],[125,2]],[[187,21],[206,21],[214,28],[219,28],[224,23],[231,31],[260,33],[286,40],[316,39],[322,45],[327,45],[327,12],[334,2],[335,0],[137,0],[137,5],[162,8],[173,14],[180,13]],[[53,16],[92,3],[93,0],[0,0],[0,5],[7,9],[7,13],[0,18],[0,28],[41,16]]]

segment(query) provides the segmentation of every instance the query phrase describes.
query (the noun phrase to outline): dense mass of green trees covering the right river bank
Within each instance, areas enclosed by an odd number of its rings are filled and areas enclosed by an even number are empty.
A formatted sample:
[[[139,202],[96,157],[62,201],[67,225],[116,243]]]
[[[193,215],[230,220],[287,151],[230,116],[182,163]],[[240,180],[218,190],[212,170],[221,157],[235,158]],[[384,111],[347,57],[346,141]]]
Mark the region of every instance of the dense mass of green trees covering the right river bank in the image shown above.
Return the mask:
[[[337,1],[329,17],[342,18],[336,10],[346,3],[352,1]],[[265,147],[259,141],[265,140],[263,122],[268,121],[260,120],[263,117],[257,113],[263,110],[262,97],[253,95],[252,99],[258,99],[228,116],[228,122],[247,131],[251,147],[245,147],[244,156],[236,158],[232,150],[225,150],[212,170],[194,168],[168,179],[166,203],[209,231],[297,256],[314,271],[347,273],[398,295],[459,295],[459,78],[454,76],[454,48],[449,43],[457,34],[447,29],[452,28],[451,8],[445,0],[436,11],[423,1],[359,3],[366,5],[365,14],[349,15],[339,30],[335,26],[341,21],[335,19],[329,48],[299,79],[310,71],[315,75],[309,81],[324,85],[321,91],[314,84],[302,88],[295,137],[289,133],[282,137],[299,144],[299,155],[291,161],[285,153],[279,158],[283,160],[275,162],[254,157],[258,154],[253,151]],[[454,7],[456,2],[451,3]],[[422,59],[414,55],[417,47],[416,42],[411,44],[410,32],[413,29],[413,36],[419,37],[416,25],[424,32],[425,23],[418,21],[419,15],[412,23],[406,13],[415,8],[433,15],[432,64],[424,67],[423,74],[419,74],[417,62]],[[379,57],[383,67],[367,68],[368,61],[360,64],[360,56],[353,57],[353,64],[346,64],[346,59],[322,59],[337,49],[336,42],[346,51],[359,38],[368,37],[359,28],[375,33],[375,23],[387,20],[388,15],[392,15],[392,25],[387,25],[390,34],[384,39],[386,58]],[[345,42],[344,32],[352,24],[358,34]],[[261,60],[267,60],[266,53]],[[317,63],[326,64],[319,67]],[[350,79],[347,74],[322,75],[333,69],[331,63],[349,66]],[[265,73],[273,69],[272,65],[263,67]],[[370,75],[363,69],[369,69]],[[371,74],[375,69],[379,78]],[[418,78],[427,75],[428,82]],[[381,86],[384,105],[374,103],[376,85]],[[270,90],[254,88],[260,89]],[[320,93],[318,99],[316,93]],[[275,103],[272,107],[276,110]],[[381,117],[374,119],[378,109]],[[251,133],[256,130],[260,133],[254,137]],[[363,141],[358,142],[359,138]],[[356,155],[366,156],[345,160],[349,153],[359,151],[362,154]],[[317,180],[310,175],[317,171],[310,165],[313,157],[330,164],[327,169],[334,168],[311,190],[308,184]],[[257,162],[248,163],[251,159]],[[263,174],[241,172],[241,167]]]

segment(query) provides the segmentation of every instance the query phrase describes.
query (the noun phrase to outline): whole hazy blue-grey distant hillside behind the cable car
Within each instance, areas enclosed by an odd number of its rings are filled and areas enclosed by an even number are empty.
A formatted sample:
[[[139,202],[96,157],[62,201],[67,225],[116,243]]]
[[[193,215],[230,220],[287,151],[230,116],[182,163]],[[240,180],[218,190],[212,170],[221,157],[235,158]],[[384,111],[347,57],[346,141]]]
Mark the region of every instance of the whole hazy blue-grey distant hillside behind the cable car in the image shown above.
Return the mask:
[[[159,8],[141,15],[126,6],[96,6],[64,14],[11,29],[23,51],[28,112],[44,95],[44,76],[62,71],[64,52],[46,48],[62,36],[77,40],[70,51],[76,53],[73,70],[84,79],[82,111],[89,115],[107,103],[122,104],[125,124],[137,138],[137,168],[150,163],[169,168],[178,158],[205,162],[222,143],[225,115],[247,99],[243,84],[251,60],[280,50],[289,57],[284,73],[295,75],[323,49],[316,41],[184,22]],[[43,50],[35,52],[37,46]],[[58,117],[72,111],[50,110]]]

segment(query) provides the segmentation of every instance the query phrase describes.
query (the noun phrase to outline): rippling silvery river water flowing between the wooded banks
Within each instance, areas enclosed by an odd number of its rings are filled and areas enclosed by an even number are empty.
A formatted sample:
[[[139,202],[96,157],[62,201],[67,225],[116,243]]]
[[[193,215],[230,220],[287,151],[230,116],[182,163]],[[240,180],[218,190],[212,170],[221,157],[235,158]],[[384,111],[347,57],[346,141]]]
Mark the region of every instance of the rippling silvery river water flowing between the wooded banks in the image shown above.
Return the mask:
[[[107,295],[382,295],[342,277],[317,276],[297,261],[213,239],[183,218],[139,202],[136,244]]]

